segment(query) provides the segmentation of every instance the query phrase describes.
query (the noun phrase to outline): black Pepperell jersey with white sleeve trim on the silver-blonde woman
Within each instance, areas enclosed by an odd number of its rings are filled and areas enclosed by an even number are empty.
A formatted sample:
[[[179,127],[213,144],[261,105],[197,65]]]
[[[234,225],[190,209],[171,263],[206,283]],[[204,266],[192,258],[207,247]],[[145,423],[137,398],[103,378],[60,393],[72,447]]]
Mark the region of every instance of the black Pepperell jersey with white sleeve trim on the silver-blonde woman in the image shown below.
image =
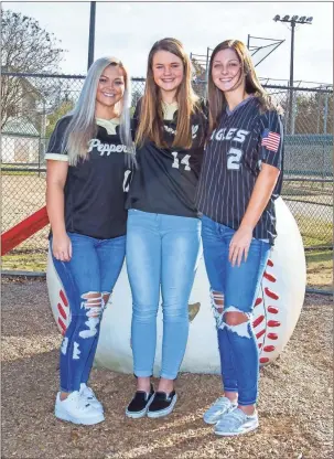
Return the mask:
[[[66,116],[57,122],[45,159],[68,161],[66,152],[61,153],[61,147],[69,120]],[[96,138],[88,143],[87,159],[68,167],[64,188],[67,232],[98,239],[126,234],[125,201],[131,174],[126,167],[126,151],[119,126],[108,134],[106,127],[98,125]]]

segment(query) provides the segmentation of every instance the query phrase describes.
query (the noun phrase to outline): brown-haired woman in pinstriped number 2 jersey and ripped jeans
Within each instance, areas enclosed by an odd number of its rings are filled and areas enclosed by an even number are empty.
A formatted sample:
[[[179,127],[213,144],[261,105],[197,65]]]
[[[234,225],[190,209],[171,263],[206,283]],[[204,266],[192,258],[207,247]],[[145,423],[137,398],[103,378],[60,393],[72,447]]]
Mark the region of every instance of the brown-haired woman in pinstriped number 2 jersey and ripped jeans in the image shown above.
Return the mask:
[[[209,135],[196,204],[222,362],[224,395],[205,413],[215,434],[258,427],[259,359],[251,313],[276,237],[283,127],[244,43],[213,51]]]

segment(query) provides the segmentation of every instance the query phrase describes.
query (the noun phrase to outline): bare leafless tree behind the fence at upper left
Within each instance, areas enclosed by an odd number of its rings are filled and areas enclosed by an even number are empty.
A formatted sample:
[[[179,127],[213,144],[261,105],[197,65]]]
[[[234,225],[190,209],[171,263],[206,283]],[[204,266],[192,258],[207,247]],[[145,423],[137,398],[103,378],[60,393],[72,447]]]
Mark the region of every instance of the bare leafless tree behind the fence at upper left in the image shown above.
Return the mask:
[[[39,107],[45,107],[46,98],[56,90],[42,78],[13,74],[54,73],[63,54],[60,41],[35,19],[1,10],[1,128],[12,117],[28,117],[36,124]]]

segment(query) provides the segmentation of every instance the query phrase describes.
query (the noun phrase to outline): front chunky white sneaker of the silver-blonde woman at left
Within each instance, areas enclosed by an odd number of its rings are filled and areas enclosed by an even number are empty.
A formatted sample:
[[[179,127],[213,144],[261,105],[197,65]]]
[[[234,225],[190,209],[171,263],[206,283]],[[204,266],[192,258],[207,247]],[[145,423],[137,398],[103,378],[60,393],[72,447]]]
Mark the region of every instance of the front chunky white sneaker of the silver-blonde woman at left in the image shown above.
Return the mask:
[[[61,401],[61,393],[57,393],[54,414],[62,420],[74,424],[91,426],[105,420],[104,414],[94,408],[78,391],[72,392],[67,398]]]

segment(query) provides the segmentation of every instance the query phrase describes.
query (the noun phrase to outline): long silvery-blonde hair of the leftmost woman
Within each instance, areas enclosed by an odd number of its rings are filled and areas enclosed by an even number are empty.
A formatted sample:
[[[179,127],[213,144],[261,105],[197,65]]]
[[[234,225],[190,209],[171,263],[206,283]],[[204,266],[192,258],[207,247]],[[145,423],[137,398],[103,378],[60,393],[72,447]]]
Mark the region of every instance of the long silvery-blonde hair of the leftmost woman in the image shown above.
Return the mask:
[[[79,98],[74,109],[67,114],[72,116],[72,119],[67,126],[62,149],[67,152],[71,166],[75,166],[79,158],[87,158],[88,141],[97,135],[97,125],[95,120],[96,92],[99,78],[105,68],[109,65],[118,66],[123,72],[125,94],[121,100],[117,103],[116,109],[121,114],[121,142],[127,146],[128,152],[133,152],[133,142],[130,131],[131,84],[129,74],[118,58],[100,57],[90,66]]]

